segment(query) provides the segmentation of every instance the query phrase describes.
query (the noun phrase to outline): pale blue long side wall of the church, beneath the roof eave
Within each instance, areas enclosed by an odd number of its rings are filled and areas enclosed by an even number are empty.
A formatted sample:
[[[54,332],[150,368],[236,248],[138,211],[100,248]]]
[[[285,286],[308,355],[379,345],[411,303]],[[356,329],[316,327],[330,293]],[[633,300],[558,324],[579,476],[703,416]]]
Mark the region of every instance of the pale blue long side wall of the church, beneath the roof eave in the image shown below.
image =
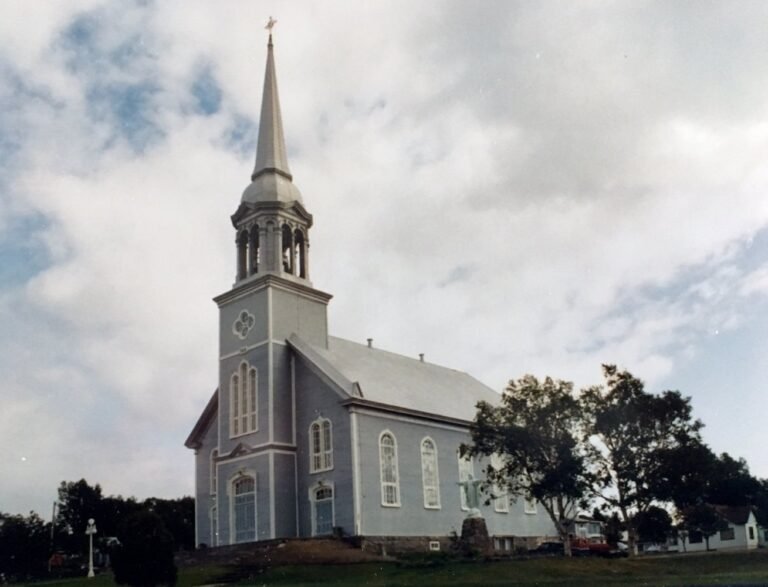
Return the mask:
[[[458,449],[469,442],[466,429],[398,416],[358,414],[362,533],[368,536],[445,536],[461,533],[467,512],[461,508]],[[382,505],[379,437],[391,432],[397,442],[400,505]],[[440,508],[424,505],[421,472],[421,442],[430,437],[437,447]],[[485,463],[475,461],[473,474],[484,478]],[[493,503],[481,504],[480,511],[492,535],[551,536],[551,522],[538,506],[537,514],[525,514],[523,500],[510,504],[509,512],[496,512]]]

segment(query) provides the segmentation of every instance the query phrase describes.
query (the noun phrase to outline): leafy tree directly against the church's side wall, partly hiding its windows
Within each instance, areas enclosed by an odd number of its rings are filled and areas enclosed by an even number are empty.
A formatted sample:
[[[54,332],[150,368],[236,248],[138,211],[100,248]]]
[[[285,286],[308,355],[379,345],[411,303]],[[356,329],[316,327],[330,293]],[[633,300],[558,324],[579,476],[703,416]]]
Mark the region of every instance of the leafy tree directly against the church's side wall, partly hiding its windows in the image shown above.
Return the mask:
[[[501,404],[477,405],[470,427],[472,444],[462,454],[500,457],[485,469],[486,491],[537,500],[571,554],[568,518],[589,482],[578,438],[581,422],[573,384],[526,375],[510,381]],[[492,497],[498,497],[492,495]]]

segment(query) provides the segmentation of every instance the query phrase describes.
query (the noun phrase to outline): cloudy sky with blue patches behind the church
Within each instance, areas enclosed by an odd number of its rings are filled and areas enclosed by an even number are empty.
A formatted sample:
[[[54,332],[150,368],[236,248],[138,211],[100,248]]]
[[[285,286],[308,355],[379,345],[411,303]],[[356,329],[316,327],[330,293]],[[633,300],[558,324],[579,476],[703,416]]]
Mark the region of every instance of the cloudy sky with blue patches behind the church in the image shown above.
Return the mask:
[[[270,16],[332,334],[617,364],[768,477],[768,3],[6,0],[0,511],[192,493]]]

